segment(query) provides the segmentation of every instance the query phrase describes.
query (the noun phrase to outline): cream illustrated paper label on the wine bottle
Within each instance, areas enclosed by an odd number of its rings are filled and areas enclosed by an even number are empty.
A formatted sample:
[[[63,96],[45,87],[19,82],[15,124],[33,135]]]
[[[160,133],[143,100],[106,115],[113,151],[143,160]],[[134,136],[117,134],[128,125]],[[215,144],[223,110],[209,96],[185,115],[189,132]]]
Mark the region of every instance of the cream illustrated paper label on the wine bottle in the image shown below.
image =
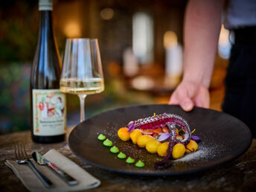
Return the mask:
[[[33,89],[33,135],[65,133],[65,95],[60,89]]]

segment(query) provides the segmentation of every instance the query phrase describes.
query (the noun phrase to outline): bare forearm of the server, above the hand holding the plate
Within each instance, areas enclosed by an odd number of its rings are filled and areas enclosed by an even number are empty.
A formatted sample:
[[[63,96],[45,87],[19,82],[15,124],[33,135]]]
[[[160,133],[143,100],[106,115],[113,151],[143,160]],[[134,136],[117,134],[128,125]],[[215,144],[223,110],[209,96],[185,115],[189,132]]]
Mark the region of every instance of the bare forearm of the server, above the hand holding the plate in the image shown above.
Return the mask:
[[[211,82],[220,35],[223,0],[191,0],[185,13],[185,67],[183,80]]]

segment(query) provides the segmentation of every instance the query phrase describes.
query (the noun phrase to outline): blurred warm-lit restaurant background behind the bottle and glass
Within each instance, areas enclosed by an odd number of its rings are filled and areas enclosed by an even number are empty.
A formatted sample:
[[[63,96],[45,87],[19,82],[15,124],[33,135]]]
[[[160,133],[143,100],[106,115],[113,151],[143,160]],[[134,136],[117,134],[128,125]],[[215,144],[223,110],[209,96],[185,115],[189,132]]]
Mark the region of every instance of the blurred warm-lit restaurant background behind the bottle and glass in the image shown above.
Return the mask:
[[[38,1],[0,2],[0,134],[30,129],[29,80],[39,29]],[[97,38],[105,91],[86,97],[86,116],[138,104],[167,103],[182,77],[185,0],[54,0],[54,32]],[[221,110],[231,45],[222,28],[211,80],[211,109]],[[68,126],[79,123],[67,95]]]

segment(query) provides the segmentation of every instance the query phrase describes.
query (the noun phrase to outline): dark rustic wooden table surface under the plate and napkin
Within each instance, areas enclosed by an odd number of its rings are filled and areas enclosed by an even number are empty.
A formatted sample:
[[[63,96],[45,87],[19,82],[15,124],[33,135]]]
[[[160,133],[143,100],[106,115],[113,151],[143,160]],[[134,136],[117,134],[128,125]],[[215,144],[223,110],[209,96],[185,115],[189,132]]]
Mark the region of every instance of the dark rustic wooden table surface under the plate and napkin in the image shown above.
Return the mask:
[[[68,133],[71,128],[68,129]],[[68,134],[67,134],[68,135]],[[4,165],[6,159],[15,159],[13,144],[23,142],[28,153],[46,153],[56,149],[75,161],[97,179],[101,185],[89,191],[255,191],[256,139],[249,150],[234,161],[214,169],[187,176],[129,176],[93,167],[77,159],[68,149],[67,141],[60,144],[35,144],[28,131],[0,136],[0,191],[27,191],[22,182]]]

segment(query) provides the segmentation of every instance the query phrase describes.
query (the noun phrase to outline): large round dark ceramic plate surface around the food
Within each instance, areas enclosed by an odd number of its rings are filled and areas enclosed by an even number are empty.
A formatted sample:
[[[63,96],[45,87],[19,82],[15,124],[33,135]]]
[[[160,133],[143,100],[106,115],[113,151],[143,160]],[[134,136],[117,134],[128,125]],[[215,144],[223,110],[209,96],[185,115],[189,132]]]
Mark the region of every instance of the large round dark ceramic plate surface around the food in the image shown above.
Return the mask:
[[[129,121],[152,116],[154,112],[157,115],[164,112],[181,115],[189,122],[191,129],[196,128],[193,135],[202,138],[196,152],[172,160],[173,165],[165,170],[153,168],[154,162],[161,160],[158,155],[148,153],[131,141],[121,141],[117,135],[118,129],[126,127]],[[145,167],[137,168],[110,153],[109,147],[104,147],[102,141],[97,140],[100,133],[106,135],[127,156],[144,161]],[[207,170],[242,155],[251,142],[249,128],[231,115],[202,108],[183,112],[179,106],[170,105],[132,106],[103,112],[78,124],[68,138],[71,151],[89,164],[119,173],[145,176],[181,175]]]

